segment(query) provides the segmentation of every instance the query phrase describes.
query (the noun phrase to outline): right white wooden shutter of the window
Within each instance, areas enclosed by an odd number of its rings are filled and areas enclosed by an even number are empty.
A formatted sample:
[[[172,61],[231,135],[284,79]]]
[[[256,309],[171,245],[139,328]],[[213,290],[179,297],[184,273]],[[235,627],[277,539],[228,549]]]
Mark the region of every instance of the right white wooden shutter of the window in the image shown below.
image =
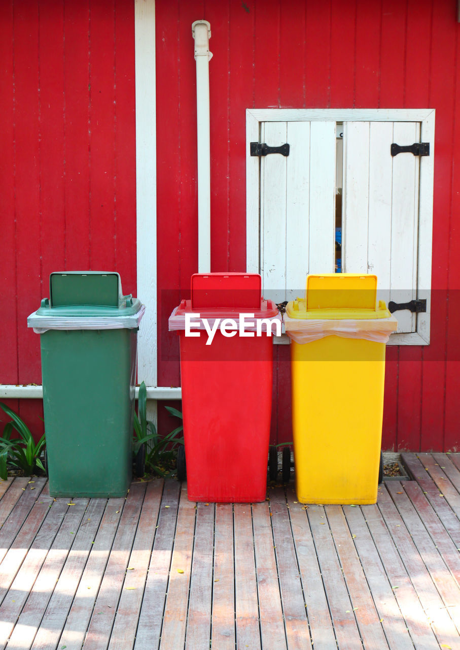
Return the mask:
[[[346,122],[343,167],[343,271],[375,273],[378,295],[396,303],[417,298],[420,157],[391,144],[420,141],[418,122]],[[398,332],[417,317],[396,313]]]

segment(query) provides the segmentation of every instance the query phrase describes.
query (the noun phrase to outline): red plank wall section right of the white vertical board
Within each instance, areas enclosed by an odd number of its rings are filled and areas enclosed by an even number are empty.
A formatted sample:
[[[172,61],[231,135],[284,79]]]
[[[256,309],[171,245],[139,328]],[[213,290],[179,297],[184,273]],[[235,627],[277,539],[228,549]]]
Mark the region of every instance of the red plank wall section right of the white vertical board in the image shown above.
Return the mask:
[[[460,284],[460,27],[455,0],[157,0],[160,385],[179,382],[176,363],[167,360],[176,355],[167,316],[176,304],[173,289],[186,291],[197,268],[191,38],[197,19],[211,23],[214,55],[214,271],[245,270],[245,109],[436,109],[431,344],[388,348],[383,448],[460,449],[455,293]],[[272,441],[287,441],[292,439],[289,348],[275,346],[274,356]],[[343,380],[337,378],[338,385]]]

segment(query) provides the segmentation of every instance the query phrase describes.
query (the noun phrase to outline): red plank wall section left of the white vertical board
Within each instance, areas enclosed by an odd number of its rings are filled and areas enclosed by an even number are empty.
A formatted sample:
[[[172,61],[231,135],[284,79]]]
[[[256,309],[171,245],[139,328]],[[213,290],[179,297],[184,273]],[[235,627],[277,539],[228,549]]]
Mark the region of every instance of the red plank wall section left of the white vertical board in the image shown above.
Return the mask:
[[[0,382],[42,383],[27,316],[50,272],[117,270],[136,293],[133,3],[1,2],[0,60]],[[8,403],[42,430],[36,400]]]

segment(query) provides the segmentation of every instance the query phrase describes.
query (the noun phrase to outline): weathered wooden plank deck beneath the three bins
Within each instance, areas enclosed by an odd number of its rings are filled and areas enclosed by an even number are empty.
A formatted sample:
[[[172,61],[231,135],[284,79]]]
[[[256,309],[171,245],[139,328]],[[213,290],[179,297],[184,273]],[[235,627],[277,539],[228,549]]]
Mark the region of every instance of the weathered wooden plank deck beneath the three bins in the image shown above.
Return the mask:
[[[0,483],[0,649],[460,649],[460,457],[404,454],[376,506],[195,504]]]

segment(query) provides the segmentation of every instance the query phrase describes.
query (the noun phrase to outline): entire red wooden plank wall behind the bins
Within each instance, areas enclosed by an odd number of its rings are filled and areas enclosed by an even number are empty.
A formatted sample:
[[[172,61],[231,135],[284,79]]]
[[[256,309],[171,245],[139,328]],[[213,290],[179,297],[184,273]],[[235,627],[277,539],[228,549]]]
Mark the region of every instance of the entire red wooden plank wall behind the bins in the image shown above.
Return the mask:
[[[197,268],[191,23],[201,18],[214,55],[212,270],[245,270],[245,109],[436,109],[431,344],[388,349],[383,448],[459,449],[455,0],[156,0],[158,385],[166,386],[180,381],[167,317]],[[136,293],[134,0],[0,3],[0,60],[0,382],[40,383],[38,335],[25,322],[52,270],[114,268]],[[274,355],[272,440],[285,441],[289,349]],[[37,404],[12,406],[40,428]]]

